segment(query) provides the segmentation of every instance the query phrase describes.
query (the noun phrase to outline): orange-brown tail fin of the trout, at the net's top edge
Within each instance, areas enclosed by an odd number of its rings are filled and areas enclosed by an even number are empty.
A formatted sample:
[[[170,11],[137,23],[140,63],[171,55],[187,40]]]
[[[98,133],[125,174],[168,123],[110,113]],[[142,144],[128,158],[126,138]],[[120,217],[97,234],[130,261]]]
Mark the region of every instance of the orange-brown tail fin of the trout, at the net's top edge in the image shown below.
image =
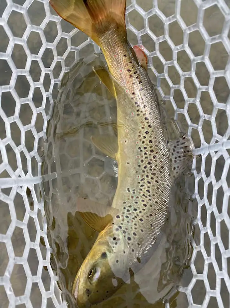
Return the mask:
[[[49,0],[49,3],[59,16],[97,44],[111,22],[125,29],[126,0]]]

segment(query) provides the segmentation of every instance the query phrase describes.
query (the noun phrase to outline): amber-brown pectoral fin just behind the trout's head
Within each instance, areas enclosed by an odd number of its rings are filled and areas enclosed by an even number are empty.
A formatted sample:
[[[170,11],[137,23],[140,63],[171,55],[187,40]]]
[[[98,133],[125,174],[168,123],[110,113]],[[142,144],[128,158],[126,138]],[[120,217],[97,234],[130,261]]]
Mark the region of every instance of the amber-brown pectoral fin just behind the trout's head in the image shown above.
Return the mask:
[[[101,232],[118,213],[116,208],[104,206],[87,198],[77,199],[77,211],[93,230]]]

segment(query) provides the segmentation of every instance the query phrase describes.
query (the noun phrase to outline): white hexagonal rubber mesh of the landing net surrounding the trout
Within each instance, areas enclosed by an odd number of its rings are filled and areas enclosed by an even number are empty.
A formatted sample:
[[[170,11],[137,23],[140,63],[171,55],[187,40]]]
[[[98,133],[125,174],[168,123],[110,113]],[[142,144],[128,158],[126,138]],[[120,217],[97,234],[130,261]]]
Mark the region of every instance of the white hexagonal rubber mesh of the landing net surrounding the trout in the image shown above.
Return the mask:
[[[128,39],[132,45],[144,45],[148,71],[159,95],[174,119],[192,137],[196,154],[202,154],[202,160],[193,166],[193,198],[198,205],[196,236],[192,241],[191,279],[178,287],[184,295],[183,307],[229,307],[229,8],[228,0],[127,3]],[[113,173],[106,178],[107,161],[95,152],[85,132],[78,137],[85,146],[84,153],[80,150],[79,157],[75,157],[75,144],[68,148],[62,141],[57,165],[52,149],[52,129],[56,127],[52,120],[53,105],[64,73],[80,58],[93,56],[100,49],[61,20],[47,0],[1,0],[0,16],[1,307],[67,307],[58,281],[62,272],[55,268],[52,253],[62,250],[65,243],[59,247],[50,245],[54,234],[50,230],[57,232],[57,227],[49,214],[55,216],[53,212],[58,211],[50,204],[55,204],[57,198],[59,203],[63,202],[61,205],[69,202],[68,198],[60,198],[57,182],[62,182],[62,189],[71,190],[86,170],[87,181],[83,182],[94,187],[90,193],[99,198],[105,197],[100,194],[102,181],[109,191],[115,187],[116,179]],[[82,69],[77,82],[81,83],[84,74]],[[84,100],[93,103],[98,98],[97,94],[90,96],[93,89],[89,87],[85,90],[87,94],[77,95],[86,95]],[[107,95],[105,90],[102,94]],[[81,117],[85,113],[95,124],[97,113],[101,116],[104,112],[104,118],[114,122],[116,108],[107,104],[108,100],[104,105],[95,105],[94,120],[87,106],[78,110],[77,106],[73,109],[73,105],[66,104],[62,114],[73,112]],[[47,134],[51,142],[44,145],[50,119],[53,123],[50,122],[51,131]],[[71,121],[74,126],[74,118]],[[70,129],[71,125],[62,130]],[[47,164],[42,175],[44,151]],[[71,180],[62,172],[63,165],[71,170]],[[56,194],[50,192],[50,187],[53,192],[56,189]],[[112,198],[113,193],[112,189],[105,199]],[[70,220],[69,216],[68,225]],[[86,231],[85,241],[92,236],[89,229]],[[59,230],[54,236],[63,232],[67,230]],[[80,248],[84,249],[77,247]],[[65,264],[64,248],[62,257]],[[137,305],[141,305],[140,301]],[[170,303],[165,305],[169,308]]]

